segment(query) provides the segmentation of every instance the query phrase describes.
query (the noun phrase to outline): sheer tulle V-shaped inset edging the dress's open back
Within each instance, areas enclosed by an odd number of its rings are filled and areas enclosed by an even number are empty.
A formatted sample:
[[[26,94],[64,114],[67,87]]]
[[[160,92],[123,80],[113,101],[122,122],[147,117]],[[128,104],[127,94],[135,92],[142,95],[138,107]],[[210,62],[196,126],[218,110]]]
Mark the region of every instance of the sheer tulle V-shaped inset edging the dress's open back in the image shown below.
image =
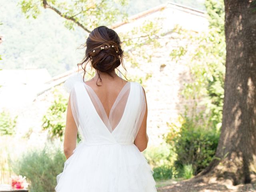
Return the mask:
[[[108,116],[105,110],[106,107],[104,108],[96,92],[93,90],[92,87],[84,83],[84,87],[90,97],[92,105],[94,106],[98,116],[101,118],[102,122],[108,128],[110,133],[118,126],[120,120],[122,119],[124,110],[128,102],[128,97],[130,94],[130,88],[131,88],[130,84],[131,84],[130,82],[127,82],[122,87],[122,89],[120,90],[120,92],[118,93],[118,96],[114,101],[114,104],[110,108],[110,112]]]

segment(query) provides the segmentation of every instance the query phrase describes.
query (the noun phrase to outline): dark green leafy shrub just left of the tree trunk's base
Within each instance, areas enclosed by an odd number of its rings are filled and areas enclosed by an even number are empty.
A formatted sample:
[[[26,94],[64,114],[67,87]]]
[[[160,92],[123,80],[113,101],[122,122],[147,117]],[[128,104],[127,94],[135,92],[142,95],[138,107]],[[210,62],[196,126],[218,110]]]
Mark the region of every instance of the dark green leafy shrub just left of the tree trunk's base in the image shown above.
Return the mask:
[[[194,174],[198,174],[214,158],[220,132],[208,127],[204,119],[203,112],[192,118],[185,113],[178,118],[179,123],[169,124],[170,132],[165,135],[165,140],[175,146],[175,166],[180,174],[186,164],[192,164]]]

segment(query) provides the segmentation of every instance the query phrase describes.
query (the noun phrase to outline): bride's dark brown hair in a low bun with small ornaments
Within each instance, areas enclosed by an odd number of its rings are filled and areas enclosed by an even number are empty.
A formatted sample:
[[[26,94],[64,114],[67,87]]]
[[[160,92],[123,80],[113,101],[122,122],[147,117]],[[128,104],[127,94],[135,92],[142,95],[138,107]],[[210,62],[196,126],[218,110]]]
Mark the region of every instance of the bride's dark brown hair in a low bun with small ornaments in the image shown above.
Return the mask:
[[[114,77],[112,72],[120,66],[120,64],[122,64],[126,71],[123,60],[124,51],[121,48],[121,44],[122,42],[118,34],[106,26],[99,26],[92,30],[86,40],[86,44],[83,45],[86,47],[85,56],[82,62],[77,64],[81,66],[85,64],[84,67],[82,66],[84,76],[86,74],[86,65],[89,61],[91,62],[91,67],[98,73],[98,79],[100,79],[100,81],[102,81],[100,72],[107,73]],[[124,77],[126,78],[125,75]],[[98,83],[98,79],[96,84]]]

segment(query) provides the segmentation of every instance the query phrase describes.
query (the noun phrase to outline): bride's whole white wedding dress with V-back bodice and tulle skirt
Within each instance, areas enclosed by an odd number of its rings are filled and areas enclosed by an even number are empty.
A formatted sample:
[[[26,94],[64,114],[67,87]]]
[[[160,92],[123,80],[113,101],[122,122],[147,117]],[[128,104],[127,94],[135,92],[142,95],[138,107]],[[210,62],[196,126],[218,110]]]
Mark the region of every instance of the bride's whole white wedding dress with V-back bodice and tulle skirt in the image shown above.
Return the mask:
[[[133,143],[145,114],[142,86],[127,82],[109,118],[80,74],[64,88],[81,141],[57,176],[56,192],[157,192],[154,172]]]

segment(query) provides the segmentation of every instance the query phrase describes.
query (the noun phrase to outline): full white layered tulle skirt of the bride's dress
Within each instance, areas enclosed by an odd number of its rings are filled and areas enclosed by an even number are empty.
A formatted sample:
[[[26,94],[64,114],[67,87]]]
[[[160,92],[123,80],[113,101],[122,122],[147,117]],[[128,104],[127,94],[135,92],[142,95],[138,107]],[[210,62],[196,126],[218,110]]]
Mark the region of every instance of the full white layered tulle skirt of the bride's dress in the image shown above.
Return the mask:
[[[80,142],[57,176],[56,192],[157,192],[153,171],[134,144]]]

